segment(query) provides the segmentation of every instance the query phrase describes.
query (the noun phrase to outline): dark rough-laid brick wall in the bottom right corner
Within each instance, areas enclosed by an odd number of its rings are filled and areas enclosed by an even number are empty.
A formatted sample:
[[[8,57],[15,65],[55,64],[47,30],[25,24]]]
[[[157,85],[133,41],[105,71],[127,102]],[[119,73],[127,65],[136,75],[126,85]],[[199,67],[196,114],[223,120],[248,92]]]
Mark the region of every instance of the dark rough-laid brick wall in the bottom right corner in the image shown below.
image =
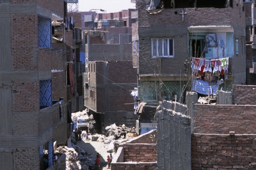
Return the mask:
[[[256,135],[191,135],[191,169],[256,168]]]

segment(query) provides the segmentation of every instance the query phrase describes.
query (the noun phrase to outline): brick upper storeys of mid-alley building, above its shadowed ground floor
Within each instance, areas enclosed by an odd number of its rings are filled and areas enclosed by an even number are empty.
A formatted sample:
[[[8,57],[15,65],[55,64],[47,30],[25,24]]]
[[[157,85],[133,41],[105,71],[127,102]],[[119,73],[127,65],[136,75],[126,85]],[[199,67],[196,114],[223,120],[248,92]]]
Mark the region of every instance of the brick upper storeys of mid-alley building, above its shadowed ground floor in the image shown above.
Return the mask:
[[[89,62],[89,66],[89,90],[95,91],[95,98],[88,98],[86,106],[98,112],[134,111],[133,105],[124,105],[134,102],[129,89],[137,86],[137,69],[132,61],[97,61]]]

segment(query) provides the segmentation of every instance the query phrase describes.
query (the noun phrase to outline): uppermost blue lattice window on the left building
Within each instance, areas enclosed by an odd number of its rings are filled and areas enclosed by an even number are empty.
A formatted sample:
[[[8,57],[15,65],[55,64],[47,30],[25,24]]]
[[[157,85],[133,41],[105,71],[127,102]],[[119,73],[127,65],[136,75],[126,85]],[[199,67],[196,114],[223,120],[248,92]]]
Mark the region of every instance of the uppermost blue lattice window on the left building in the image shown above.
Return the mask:
[[[51,19],[38,16],[38,47],[52,47]]]

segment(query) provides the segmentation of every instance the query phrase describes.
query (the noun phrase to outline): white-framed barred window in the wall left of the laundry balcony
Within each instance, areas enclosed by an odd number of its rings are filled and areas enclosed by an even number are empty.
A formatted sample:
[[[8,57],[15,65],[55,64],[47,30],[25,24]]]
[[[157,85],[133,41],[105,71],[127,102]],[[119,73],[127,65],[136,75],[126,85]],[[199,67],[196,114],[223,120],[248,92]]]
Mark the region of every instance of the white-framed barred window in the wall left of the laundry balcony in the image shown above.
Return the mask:
[[[173,38],[152,38],[152,57],[174,57]]]

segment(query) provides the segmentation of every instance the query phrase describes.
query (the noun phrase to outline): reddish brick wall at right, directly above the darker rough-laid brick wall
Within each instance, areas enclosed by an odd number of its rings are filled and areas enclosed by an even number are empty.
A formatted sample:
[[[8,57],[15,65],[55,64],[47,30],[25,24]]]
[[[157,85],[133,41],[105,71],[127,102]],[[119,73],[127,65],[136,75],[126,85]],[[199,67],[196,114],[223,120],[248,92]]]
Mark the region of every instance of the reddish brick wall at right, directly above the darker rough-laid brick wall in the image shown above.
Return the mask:
[[[255,113],[256,105],[196,105],[194,133],[256,134]]]

